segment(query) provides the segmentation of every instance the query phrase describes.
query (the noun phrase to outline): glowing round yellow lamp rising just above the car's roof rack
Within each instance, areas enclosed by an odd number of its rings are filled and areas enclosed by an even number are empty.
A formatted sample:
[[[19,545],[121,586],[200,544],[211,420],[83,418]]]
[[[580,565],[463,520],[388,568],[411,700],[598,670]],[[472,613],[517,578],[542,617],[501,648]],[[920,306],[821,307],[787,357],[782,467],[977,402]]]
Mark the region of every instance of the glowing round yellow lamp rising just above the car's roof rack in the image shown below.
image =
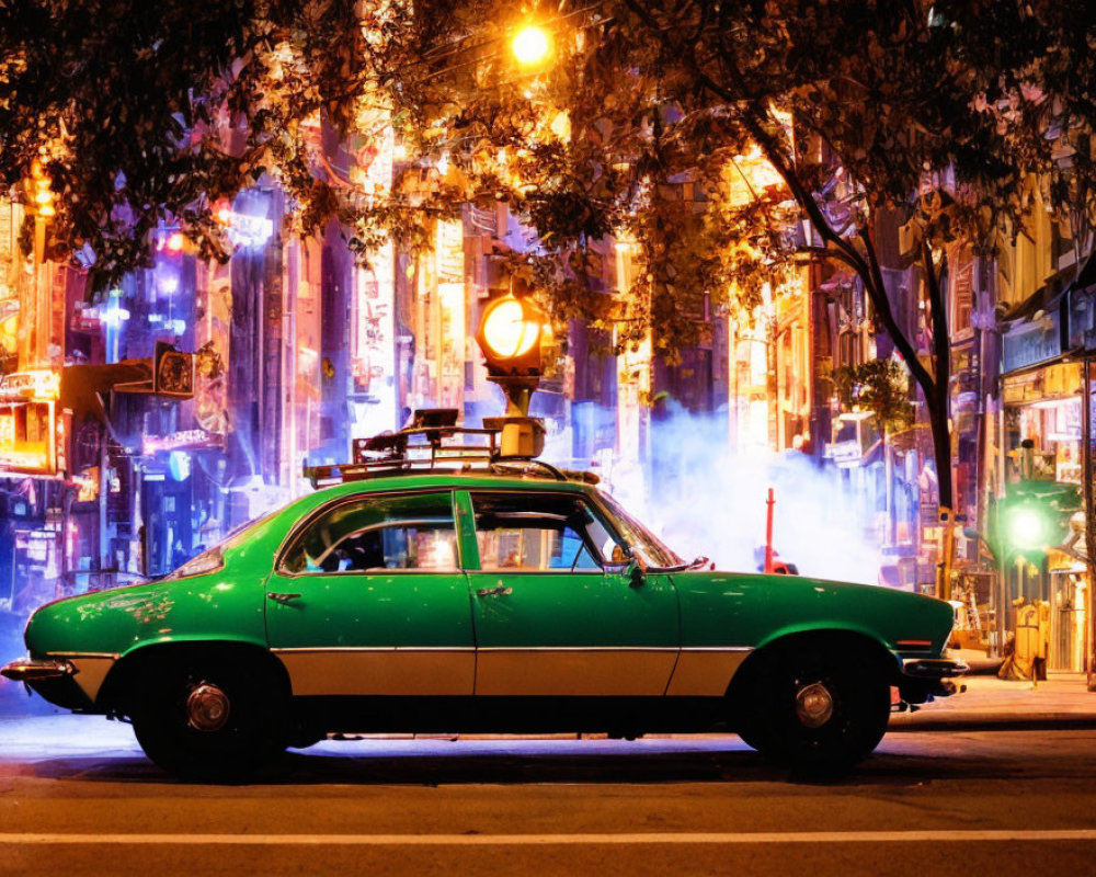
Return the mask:
[[[494,299],[480,319],[476,343],[483,351],[488,380],[506,394],[505,415],[484,418],[483,423],[501,429],[503,456],[535,457],[544,449],[544,424],[528,414],[529,399],[540,384],[541,346],[550,341],[544,311],[513,293]]]

